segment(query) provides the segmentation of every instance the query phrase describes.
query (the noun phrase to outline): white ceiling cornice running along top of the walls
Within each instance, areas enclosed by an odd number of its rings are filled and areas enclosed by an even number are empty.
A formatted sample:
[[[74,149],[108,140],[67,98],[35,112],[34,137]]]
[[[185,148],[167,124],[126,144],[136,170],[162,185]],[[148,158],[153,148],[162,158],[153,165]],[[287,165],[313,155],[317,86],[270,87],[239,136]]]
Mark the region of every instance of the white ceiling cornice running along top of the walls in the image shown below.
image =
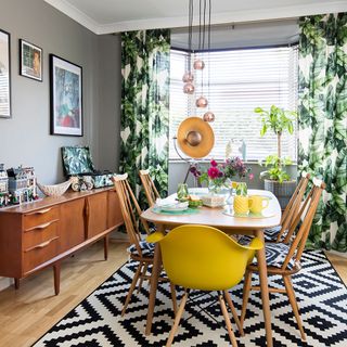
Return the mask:
[[[80,25],[94,34],[113,34],[120,31],[154,29],[154,28],[176,28],[187,26],[188,18],[184,17],[159,17],[139,21],[125,21],[112,24],[100,24],[76,9],[65,0],[44,0],[59,11],[63,12]],[[211,24],[244,23],[254,21],[268,21],[299,17],[303,15],[347,12],[346,0],[326,1],[319,4],[303,4],[293,7],[282,7],[275,9],[258,9],[248,11],[235,11],[213,14]]]

